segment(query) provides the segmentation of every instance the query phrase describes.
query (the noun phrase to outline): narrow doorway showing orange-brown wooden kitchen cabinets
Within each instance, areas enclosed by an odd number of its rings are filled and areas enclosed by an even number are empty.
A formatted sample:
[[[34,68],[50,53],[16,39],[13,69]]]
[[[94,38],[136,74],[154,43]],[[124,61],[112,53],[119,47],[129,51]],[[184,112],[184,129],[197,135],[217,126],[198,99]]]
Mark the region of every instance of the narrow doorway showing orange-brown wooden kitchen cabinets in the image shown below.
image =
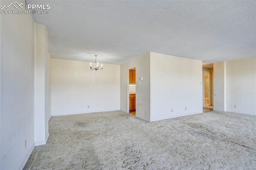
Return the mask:
[[[129,69],[129,113],[136,115],[136,68]]]

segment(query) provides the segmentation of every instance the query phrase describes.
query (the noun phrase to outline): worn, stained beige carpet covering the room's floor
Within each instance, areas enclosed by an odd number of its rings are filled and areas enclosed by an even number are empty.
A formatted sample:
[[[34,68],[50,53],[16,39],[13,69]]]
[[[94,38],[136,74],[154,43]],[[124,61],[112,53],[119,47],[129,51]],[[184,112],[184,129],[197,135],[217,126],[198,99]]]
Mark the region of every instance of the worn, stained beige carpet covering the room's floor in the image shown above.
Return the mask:
[[[256,116],[212,111],[147,122],[121,111],[52,117],[24,169],[256,169]]]

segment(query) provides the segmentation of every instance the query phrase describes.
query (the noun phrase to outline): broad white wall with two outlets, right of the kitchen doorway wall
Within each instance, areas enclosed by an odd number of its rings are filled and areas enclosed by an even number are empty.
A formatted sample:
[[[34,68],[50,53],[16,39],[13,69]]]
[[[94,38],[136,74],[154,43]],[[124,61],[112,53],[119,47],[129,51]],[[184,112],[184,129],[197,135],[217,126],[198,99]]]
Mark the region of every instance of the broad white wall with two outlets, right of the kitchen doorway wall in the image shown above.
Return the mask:
[[[197,113],[202,113],[202,61],[150,52],[150,121]]]

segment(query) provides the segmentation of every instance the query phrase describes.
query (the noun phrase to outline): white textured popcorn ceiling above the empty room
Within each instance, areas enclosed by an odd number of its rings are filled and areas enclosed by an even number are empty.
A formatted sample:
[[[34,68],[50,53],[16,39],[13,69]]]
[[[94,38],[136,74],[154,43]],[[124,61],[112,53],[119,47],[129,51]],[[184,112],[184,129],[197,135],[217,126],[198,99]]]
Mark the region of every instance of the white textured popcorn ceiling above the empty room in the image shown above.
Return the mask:
[[[256,1],[37,0],[52,58],[122,64],[156,52],[212,63],[256,56]]]

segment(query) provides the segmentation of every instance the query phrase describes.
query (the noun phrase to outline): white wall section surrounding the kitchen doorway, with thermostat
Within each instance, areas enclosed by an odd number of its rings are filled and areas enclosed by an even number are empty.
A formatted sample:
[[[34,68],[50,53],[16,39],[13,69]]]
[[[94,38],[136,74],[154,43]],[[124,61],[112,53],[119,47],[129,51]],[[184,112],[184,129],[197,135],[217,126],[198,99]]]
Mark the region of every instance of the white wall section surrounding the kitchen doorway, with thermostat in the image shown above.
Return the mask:
[[[121,65],[120,109],[129,112],[129,69],[136,67],[136,117],[150,121],[150,53]],[[143,81],[140,80],[143,77]]]

